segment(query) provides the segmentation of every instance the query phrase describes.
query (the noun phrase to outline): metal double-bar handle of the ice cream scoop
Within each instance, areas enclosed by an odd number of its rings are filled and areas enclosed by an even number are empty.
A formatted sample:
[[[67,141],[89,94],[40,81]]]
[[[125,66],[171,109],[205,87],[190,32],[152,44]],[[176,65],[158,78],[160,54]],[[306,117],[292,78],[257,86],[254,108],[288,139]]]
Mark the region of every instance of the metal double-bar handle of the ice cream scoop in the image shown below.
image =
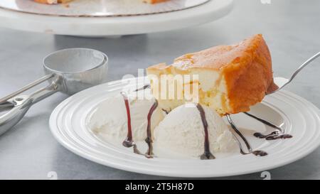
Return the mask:
[[[1,99],[6,99],[6,101],[0,103],[0,112],[1,110],[4,111],[6,109],[11,109],[9,110],[9,112],[6,112],[6,114],[0,116],[0,135],[4,134],[6,131],[16,125],[33,104],[39,102],[41,99],[53,95],[53,93],[57,92],[59,88],[56,82],[53,81],[47,87],[43,87],[42,89],[33,92],[33,94],[31,95],[16,96],[16,94],[20,94],[21,92],[24,92],[31,87],[34,87],[35,85],[38,85],[41,82],[44,82],[52,77],[54,77],[54,75],[46,75],[41,79],[36,80],[35,82],[32,82],[31,84],[26,85],[20,90],[12,93],[11,95],[8,95]],[[57,78],[57,80],[59,79]],[[9,97],[11,98],[8,99]]]

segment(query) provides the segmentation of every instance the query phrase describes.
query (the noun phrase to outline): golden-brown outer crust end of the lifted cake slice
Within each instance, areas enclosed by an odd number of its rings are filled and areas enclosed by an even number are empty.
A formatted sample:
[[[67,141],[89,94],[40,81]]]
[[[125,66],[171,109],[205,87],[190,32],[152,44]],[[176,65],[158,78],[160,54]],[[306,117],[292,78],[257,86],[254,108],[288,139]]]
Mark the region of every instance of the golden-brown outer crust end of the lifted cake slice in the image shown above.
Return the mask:
[[[261,102],[265,94],[276,87],[272,76],[269,48],[261,34],[233,45],[234,59],[223,66],[228,83],[230,113],[245,112],[250,106]]]

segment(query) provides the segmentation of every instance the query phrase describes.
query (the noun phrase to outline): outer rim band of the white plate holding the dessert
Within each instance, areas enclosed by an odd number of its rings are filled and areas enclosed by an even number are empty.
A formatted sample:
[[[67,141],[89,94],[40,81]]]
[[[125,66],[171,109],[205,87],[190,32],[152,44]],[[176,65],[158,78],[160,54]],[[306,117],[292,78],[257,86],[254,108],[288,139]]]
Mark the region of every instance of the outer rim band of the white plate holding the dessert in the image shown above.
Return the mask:
[[[131,78],[131,79],[136,79],[136,78]],[[130,79],[127,79],[127,80],[130,80]],[[114,84],[119,84],[119,83],[123,83],[123,80],[114,80],[112,82],[107,82],[102,85],[114,85]],[[102,85],[97,85],[95,87],[99,87],[99,86],[101,87]],[[92,88],[95,88],[95,87],[90,87],[87,90],[94,90]],[[87,90],[83,90],[81,92],[78,92],[75,95],[85,94],[85,92]],[[320,124],[320,110],[318,109],[318,107],[316,107],[314,104],[307,101],[303,97],[300,97],[299,95],[295,95],[294,93],[289,92],[287,90],[281,90],[281,91],[279,91],[279,93],[282,93],[283,95],[289,95],[289,97],[294,97],[295,99],[299,99],[301,102],[308,104],[309,105],[308,109],[311,110],[313,115],[317,117],[316,124],[317,125]],[[71,97],[73,97],[73,96],[71,96]],[[276,165],[273,165],[271,167],[267,166],[264,168],[259,168],[258,171],[257,171],[257,169],[251,169],[251,170],[242,170],[241,172],[237,171],[235,173],[220,173],[220,174],[215,173],[214,176],[209,175],[209,174],[201,176],[198,174],[193,175],[192,173],[168,174],[166,172],[161,172],[161,171],[150,171],[150,170],[144,170],[144,169],[140,169],[140,168],[129,168],[128,166],[124,166],[121,164],[119,165],[119,164],[114,164],[114,163],[108,163],[105,160],[102,160],[101,158],[97,158],[93,155],[92,156],[86,155],[85,153],[82,153],[82,151],[76,149],[73,145],[70,145],[70,142],[65,142],[65,141],[63,141],[64,139],[61,139],[61,137],[58,134],[58,130],[54,129],[55,127],[58,128],[58,126],[55,126],[56,117],[58,116],[58,114],[56,114],[56,113],[58,113],[60,111],[60,109],[62,109],[64,107],[64,104],[66,104],[66,103],[68,104],[71,97],[68,97],[67,99],[63,100],[63,102],[58,104],[58,106],[55,107],[52,114],[50,115],[50,119],[49,119],[50,131],[53,134],[53,136],[55,137],[55,139],[60,144],[62,144],[65,147],[65,149],[68,149],[69,151],[76,153],[78,156],[81,156],[82,158],[86,158],[87,160],[93,161],[95,163],[100,163],[101,165],[110,166],[111,168],[116,168],[116,169],[120,169],[123,171],[129,171],[129,172],[134,172],[134,173],[144,173],[144,174],[153,175],[153,176],[166,176],[166,177],[179,177],[179,178],[212,178],[212,177],[236,176],[236,175],[242,175],[242,174],[247,174],[247,173],[255,173],[255,172],[259,172],[259,171],[270,170],[273,168],[278,168],[280,166],[285,166],[289,163],[292,163],[294,161],[298,161],[301,158],[304,158],[305,156],[309,155],[309,153],[313,152],[315,149],[317,149],[320,146],[320,136],[318,136],[319,141],[316,141],[316,143],[312,144],[311,148],[307,149],[302,154],[299,153],[299,155],[295,156],[294,158],[291,158],[291,159],[284,161],[284,162],[280,161],[279,163],[277,163]],[[320,130],[320,129],[316,129],[316,130]]]

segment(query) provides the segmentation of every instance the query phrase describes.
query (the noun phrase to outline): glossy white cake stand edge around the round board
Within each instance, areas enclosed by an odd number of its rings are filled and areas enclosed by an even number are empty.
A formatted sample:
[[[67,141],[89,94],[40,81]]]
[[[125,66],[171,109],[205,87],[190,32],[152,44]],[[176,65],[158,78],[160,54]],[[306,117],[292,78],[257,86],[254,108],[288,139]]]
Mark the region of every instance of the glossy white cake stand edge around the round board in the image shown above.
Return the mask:
[[[233,0],[210,0],[180,11],[114,17],[46,16],[0,8],[0,27],[71,36],[119,36],[170,31],[208,23],[225,16],[232,7]]]

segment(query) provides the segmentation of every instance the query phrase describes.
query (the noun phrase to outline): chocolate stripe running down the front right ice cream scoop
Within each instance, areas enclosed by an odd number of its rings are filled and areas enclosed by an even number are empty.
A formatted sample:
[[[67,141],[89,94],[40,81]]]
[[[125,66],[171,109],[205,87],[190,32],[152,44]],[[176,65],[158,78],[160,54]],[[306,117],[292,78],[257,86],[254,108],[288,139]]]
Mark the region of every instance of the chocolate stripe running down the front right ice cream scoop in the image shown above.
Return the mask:
[[[206,113],[203,110],[201,104],[197,104],[197,109],[200,112],[203,129],[205,131],[205,142],[204,142],[204,153],[200,156],[201,160],[215,159],[215,156],[210,152],[209,134],[208,134],[208,123],[206,119]]]

